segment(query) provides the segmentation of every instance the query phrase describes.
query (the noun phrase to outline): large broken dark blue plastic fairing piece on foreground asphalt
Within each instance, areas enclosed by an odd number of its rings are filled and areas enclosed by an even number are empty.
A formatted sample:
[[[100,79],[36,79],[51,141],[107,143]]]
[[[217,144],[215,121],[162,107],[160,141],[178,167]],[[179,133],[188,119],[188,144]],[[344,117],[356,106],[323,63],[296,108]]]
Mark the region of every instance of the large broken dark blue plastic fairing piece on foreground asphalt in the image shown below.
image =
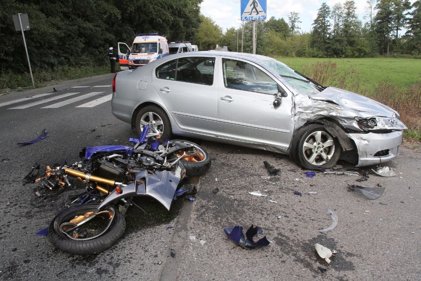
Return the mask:
[[[233,240],[236,244],[240,245],[246,249],[253,249],[257,247],[267,246],[270,244],[269,240],[266,239],[266,236],[259,239],[257,242],[253,241],[253,237],[257,234],[262,233],[262,229],[259,227],[254,227],[253,225],[246,232],[246,236],[243,234],[242,226],[235,226],[234,228],[224,229],[225,234]]]

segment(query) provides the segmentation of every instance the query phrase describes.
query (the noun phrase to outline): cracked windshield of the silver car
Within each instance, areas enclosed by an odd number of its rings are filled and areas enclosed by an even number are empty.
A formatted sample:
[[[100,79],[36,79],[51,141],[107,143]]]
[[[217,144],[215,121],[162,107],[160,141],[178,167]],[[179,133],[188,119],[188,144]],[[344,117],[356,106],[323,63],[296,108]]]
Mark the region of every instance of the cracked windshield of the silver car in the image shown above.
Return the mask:
[[[263,61],[261,64],[274,71],[279,76],[283,77],[291,86],[293,86],[301,94],[317,94],[324,90],[324,87],[322,87],[321,85],[312,81],[308,77],[298,73],[297,71],[280,61],[266,60]]]

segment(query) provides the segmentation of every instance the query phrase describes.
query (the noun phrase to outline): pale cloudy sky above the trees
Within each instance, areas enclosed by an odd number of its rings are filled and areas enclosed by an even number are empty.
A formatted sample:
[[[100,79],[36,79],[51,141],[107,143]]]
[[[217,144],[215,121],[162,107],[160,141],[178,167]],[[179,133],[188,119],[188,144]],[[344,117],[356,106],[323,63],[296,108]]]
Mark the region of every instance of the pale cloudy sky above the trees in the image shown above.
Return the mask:
[[[248,0],[247,0],[248,1]],[[258,1],[258,0],[257,0]],[[329,7],[336,3],[343,4],[346,0],[266,0],[267,19],[274,16],[276,19],[284,18],[288,23],[290,12],[298,12],[301,23],[298,26],[302,32],[310,32],[311,24],[317,16],[318,9],[323,2]],[[354,0],[357,7],[356,14],[360,20],[366,15],[366,0]],[[411,2],[414,2],[412,0]],[[225,32],[227,28],[241,26],[241,0],[203,0],[201,3],[201,13],[206,17],[211,17],[218,26]]]

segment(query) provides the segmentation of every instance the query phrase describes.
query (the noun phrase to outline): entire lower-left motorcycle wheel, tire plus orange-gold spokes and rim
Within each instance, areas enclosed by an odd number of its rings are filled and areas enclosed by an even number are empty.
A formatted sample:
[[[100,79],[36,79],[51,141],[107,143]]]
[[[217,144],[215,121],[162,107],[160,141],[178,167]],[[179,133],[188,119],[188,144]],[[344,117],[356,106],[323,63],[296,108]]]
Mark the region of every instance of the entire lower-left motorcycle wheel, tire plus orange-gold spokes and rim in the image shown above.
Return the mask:
[[[81,204],[61,211],[48,228],[53,246],[63,252],[90,255],[105,251],[123,236],[126,220],[112,205]]]

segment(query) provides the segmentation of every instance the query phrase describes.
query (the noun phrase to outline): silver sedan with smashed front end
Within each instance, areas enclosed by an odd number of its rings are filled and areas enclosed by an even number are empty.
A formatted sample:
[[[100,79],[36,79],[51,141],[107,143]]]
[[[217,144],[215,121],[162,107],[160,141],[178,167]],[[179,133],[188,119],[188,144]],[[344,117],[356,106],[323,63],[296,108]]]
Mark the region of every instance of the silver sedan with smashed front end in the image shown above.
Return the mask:
[[[232,143],[290,154],[307,169],[338,159],[356,166],[396,157],[399,114],[368,97],[324,87],[273,58],[180,53],[113,80],[112,113],[138,132]]]

